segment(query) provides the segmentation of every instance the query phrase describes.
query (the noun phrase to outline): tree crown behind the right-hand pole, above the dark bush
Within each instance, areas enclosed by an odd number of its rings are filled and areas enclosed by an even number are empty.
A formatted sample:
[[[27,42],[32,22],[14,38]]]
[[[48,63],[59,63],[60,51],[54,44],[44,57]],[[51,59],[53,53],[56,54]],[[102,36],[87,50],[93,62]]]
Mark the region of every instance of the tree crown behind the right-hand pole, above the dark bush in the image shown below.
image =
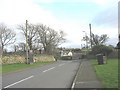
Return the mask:
[[[101,36],[99,35],[95,35],[95,34],[91,34],[91,40],[88,36],[83,37],[83,41],[87,41],[87,43],[92,43],[92,46],[96,46],[96,45],[103,45],[107,40],[108,40],[108,36],[107,34],[102,34]]]

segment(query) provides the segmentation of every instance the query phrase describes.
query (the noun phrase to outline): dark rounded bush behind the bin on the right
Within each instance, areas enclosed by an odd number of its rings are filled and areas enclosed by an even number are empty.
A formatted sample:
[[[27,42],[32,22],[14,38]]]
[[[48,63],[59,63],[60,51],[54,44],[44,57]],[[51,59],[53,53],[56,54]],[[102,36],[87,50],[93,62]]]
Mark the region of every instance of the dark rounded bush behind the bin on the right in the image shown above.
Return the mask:
[[[110,46],[105,46],[105,45],[96,45],[92,48],[92,53],[94,55],[96,54],[104,54],[108,56],[111,52],[113,51],[113,48]]]

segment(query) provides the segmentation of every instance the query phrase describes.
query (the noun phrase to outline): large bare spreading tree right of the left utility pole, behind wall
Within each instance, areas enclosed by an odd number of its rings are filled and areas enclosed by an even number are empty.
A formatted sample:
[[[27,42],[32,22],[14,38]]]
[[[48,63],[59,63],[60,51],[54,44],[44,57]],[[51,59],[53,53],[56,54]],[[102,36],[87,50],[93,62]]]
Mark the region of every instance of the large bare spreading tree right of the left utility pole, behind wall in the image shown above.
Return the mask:
[[[46,53],[52,53],[58,45],[65,42],[63,31],[57,32],[43,24],[38,24],[36,29],[39,34],[39,42],[43,45]]]

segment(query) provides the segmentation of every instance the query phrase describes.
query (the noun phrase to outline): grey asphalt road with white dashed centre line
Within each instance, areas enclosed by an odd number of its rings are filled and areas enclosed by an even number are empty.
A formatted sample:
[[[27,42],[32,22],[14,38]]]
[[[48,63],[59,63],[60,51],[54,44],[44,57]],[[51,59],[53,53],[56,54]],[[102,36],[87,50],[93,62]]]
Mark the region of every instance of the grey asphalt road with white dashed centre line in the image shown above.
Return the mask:
[[[2,76],[2,88],[71,88],[80,60],[62,61]]]

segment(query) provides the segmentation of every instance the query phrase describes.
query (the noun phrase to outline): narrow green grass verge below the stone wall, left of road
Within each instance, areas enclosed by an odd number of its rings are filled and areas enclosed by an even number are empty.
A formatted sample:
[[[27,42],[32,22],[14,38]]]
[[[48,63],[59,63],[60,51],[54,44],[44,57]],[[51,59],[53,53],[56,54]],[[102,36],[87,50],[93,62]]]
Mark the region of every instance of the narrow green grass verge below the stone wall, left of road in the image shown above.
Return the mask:
[[[7,64],[7,65],[2,65],[2,73],[9,73],[9,72],[14,72],[14,71],[19,71],[19,70],[24,70],[27,68],[35,68],[38,66],[43,66],[46,64],[53,63],[53,61],[46,61],[46,62],[36,62],[34,64]]]

